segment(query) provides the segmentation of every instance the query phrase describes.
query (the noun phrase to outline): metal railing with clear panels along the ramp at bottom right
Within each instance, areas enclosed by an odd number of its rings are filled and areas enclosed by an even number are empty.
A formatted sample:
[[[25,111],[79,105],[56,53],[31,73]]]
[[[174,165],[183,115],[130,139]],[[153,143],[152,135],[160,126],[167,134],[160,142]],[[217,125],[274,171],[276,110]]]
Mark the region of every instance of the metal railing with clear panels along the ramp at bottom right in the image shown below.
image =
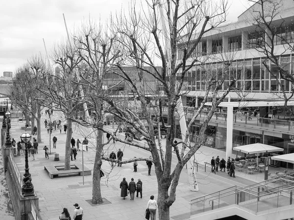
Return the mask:
[[[191,200],[191,215],[237,204],[254,212],[292,205],[294,177],[284,174],[251,186],[234,186]]]

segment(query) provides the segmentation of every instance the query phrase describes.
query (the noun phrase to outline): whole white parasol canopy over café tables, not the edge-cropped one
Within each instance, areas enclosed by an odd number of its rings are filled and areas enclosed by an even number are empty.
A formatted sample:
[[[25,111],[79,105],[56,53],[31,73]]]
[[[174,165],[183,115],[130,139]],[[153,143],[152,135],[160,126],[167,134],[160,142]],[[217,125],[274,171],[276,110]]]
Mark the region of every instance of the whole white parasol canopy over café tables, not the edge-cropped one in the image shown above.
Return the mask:
[[[243,146],[233,147],[233,150],[240,151],[243,153],[252,154],[252,153],[284,151],[284,148],[256,143],[256,144],[251,144],[251,145],[243,145]]]

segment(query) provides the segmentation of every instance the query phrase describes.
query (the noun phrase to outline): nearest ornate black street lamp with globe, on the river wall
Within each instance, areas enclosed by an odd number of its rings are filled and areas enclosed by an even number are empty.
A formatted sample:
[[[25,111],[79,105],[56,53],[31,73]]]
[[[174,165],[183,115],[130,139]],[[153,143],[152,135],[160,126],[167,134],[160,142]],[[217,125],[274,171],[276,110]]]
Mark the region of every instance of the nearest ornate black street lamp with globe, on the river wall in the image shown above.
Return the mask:
[[[27,159],[27,142],[29,142],[31,140],[32,136],[27,133],[27,132],[24,132],[22,135],[21,135],[21,139],[23,142],[25,142],[25,174],[24,174],[24,183],[23,183],[23,186],[22,186],[22,194],[24,197],[27,197],[27,196],[35,196],[34,194],[34,186],[33,184],[31,183],[32,181],[32,178],[31,178],[31,174],[29,173],[29,168],[28,168],[28,159]]]

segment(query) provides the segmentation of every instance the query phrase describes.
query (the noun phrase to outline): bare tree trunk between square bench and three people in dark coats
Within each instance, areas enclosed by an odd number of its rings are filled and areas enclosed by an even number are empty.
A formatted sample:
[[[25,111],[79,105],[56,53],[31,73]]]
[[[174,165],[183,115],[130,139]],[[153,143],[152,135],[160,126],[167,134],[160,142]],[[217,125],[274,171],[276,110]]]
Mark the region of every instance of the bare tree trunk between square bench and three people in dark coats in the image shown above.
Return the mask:
[[[101,125],[103,126],[103,125]],[[96,148],[96,156],[95,156],[95,163],[93,169],[93,188],[92,188],[92,203],[93,204],[101,204],[103,203],[102,196],[101,196],[101,189],[100,189],[100,169],[102,165],[101,161],[101,152],[103,149],[102,146],[102,138],[103,132],[101,130],[97,130],[97,148]]]

